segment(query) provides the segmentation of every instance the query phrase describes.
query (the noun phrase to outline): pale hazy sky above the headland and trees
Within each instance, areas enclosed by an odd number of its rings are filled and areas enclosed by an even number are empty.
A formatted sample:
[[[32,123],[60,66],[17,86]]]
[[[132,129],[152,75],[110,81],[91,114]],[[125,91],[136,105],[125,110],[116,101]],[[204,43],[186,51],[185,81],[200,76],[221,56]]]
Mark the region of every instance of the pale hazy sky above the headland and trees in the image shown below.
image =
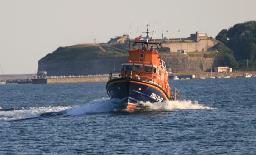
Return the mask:
[[[139,17],[139,33],[146,21],[155,30],[157,20],[159,38],[164,6],[164,36],[170,38],[199,29],[215,37],[236,23],[256,20],[255,0],[0,0],[0,64],[5,74],[35,73],[38,60],[59,46],[93,43],[94,38],[107,42],[129,33],[131,9],[131,37],[136,37]]]

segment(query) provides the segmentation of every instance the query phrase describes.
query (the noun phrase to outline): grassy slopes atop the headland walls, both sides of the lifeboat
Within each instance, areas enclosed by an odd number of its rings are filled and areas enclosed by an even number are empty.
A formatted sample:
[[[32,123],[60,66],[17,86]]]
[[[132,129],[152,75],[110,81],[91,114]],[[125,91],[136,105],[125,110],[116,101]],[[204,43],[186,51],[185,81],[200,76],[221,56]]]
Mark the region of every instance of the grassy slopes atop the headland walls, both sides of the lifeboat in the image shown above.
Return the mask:
[[[122,44],[121,44],[122,45]],[[128,57],[129,48],[119,44],[99,45],[99,44],[79,44],[74,46],[59,47],[52,53],[40,59],[40,62],[56,61],[87,61],[91,59],[101,59],[109,57]],[[186,55],[178,53],[163,53],[164,57],[224,57],[225,54],[233,54],[223,43],[217,43],[217,51],[210,52],[188,52]]]

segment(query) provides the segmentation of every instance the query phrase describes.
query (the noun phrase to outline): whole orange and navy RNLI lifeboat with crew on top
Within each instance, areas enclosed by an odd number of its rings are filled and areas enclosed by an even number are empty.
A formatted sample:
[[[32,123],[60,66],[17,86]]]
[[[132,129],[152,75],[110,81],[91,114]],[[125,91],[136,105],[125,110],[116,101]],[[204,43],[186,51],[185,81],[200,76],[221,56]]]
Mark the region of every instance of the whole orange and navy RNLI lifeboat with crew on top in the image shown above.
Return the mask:
[[[165,102],[179,100],[179,91],[171,92],[166,65],[161,60],[161,44],[149,41],[147,37],[135,39],[126,62],[121,64],[121,73],[113,78],[110,73],[106,84],[110,99],[121,99],[121,108],[131,111],[141,107],[142,102]]]

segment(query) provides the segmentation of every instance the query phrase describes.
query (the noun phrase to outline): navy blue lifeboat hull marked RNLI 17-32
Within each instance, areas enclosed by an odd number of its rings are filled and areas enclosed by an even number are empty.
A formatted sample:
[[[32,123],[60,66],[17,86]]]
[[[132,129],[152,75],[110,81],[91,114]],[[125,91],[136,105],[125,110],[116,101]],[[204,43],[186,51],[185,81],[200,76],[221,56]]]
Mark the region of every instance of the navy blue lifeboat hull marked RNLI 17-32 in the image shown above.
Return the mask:
[[[107,82],[110,99],[118,98],[125,103],[164,102],[170,100],[166,92],[157,84],[137,79],[118,78]]]

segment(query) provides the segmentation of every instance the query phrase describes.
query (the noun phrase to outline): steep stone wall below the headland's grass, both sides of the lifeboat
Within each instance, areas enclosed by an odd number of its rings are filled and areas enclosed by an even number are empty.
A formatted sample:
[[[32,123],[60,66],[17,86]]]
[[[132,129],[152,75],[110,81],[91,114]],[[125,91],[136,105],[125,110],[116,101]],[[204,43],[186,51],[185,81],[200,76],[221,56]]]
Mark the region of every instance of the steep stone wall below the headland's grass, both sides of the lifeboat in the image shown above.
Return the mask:
[[[204,70],[211,71],[211,67],[217,67],[221,63],[220,58],[204,57],[163,57],[166,67],[172,72],[199,72],[199,62],[203,62]],[[47,76],[69,76],[69,75],[96,75],[107,74],[116,67],[116,73],[121,71],[121,63],[126,62],[127,57],[92,59],[89,61],[58,61],[38,62],[38,71],[47,71]],[[114,67],[115,66],[115,67]]]

